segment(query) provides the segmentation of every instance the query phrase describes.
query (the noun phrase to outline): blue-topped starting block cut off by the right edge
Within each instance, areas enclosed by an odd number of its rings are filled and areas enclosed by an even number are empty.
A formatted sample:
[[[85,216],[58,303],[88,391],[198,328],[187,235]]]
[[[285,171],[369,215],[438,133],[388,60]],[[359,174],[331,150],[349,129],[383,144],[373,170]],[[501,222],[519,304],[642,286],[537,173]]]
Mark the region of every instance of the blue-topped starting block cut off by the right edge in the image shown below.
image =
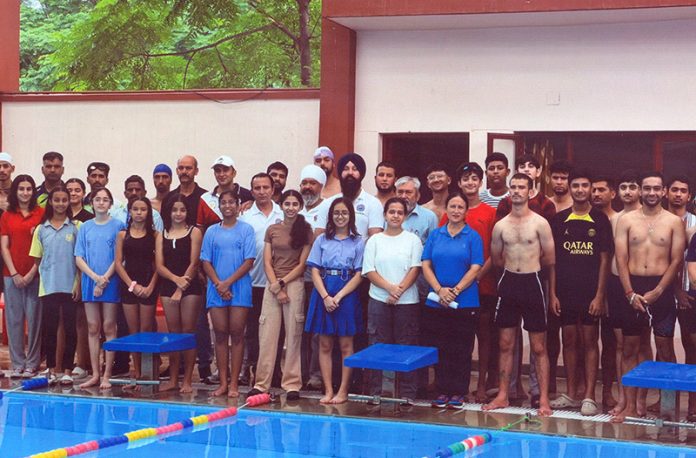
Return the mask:
[[[644,361],[622,378],[624,386],[658,388],[660,417],[679,421],[679,392],[696,392],[696,365]]]

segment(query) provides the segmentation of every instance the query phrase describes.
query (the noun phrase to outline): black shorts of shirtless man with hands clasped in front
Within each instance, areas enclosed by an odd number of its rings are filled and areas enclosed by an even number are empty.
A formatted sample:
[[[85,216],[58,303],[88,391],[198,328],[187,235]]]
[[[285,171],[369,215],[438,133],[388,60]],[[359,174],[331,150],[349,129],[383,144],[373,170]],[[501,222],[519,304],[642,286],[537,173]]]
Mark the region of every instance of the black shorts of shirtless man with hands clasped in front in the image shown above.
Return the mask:
[[[655,289],[662,277],[642,277],[631,275],[631,286],[636,294],[645,294]],[[628,301],[626,301],[628,304]],[[677,321],[677,304],[674,300],[672,285],[668,286],[654,304],[647,307],[646,312],[640,312],[627,305],[625,315],[622,314],[621,330],[624,336],[639,336],[642,331],[652,326],[656,337],[674,337],[674,326]]]

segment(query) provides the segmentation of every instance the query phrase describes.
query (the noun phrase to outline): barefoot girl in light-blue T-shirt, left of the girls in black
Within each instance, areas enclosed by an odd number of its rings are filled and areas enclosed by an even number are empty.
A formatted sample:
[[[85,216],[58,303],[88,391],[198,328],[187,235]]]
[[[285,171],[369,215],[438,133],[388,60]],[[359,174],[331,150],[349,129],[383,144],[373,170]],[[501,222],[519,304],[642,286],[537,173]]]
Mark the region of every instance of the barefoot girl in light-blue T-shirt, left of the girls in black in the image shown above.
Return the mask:
[[[125,229],[122,222],[109,216],[113,203],[111,191],[101,188],[92,194],[94,219],[80,226],[75,245],[75,262],[82,271],[82,300],[85,303],[87,326],[89,328],[89,356],[92,364],[92,377],[80,388],[99,383],[99,349],[102,328],[106,340],[116,337],[116,314],[121,300],[119,282],[112,281],[114,275],[114,255],[116,236]],[[99,387],[111,388],[114,352],[107,351],[104,376]]]

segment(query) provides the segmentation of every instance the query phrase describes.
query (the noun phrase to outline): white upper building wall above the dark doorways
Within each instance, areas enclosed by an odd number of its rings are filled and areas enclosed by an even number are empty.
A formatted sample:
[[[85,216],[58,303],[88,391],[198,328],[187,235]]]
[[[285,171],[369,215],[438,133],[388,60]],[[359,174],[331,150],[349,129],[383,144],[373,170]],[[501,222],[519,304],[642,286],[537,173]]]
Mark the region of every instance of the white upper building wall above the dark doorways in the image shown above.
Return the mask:
[[[491,131],[696,129],[695,21],[357,40],[355,150],[374,161],[387,132],[470,132],[482,161]]]

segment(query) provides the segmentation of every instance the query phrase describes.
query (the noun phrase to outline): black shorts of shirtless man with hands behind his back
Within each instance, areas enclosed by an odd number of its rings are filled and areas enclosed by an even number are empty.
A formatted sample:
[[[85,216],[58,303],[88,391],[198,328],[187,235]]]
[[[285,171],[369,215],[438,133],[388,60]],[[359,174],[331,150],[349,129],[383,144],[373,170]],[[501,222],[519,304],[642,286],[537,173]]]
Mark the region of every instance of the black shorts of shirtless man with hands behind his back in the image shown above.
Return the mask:
[[[541,274],[518,274],[506,270],[498,282],[495,324],[499,328],[514,328],[519,326],[520,317],[524,318],[525,330],[546,331],[546,302]]]

